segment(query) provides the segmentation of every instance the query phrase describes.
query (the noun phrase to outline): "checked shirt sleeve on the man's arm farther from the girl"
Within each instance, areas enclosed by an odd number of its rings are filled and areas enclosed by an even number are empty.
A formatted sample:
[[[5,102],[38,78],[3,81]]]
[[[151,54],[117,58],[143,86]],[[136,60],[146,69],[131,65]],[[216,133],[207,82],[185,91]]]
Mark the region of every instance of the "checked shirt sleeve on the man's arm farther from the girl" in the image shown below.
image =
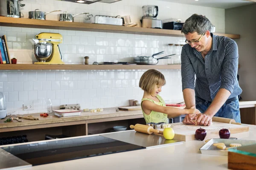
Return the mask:
[[[238,47],[235,41],[229,42],[225,50],[225,59],[221,70],[221,86],[232,94],[238,71]]]

